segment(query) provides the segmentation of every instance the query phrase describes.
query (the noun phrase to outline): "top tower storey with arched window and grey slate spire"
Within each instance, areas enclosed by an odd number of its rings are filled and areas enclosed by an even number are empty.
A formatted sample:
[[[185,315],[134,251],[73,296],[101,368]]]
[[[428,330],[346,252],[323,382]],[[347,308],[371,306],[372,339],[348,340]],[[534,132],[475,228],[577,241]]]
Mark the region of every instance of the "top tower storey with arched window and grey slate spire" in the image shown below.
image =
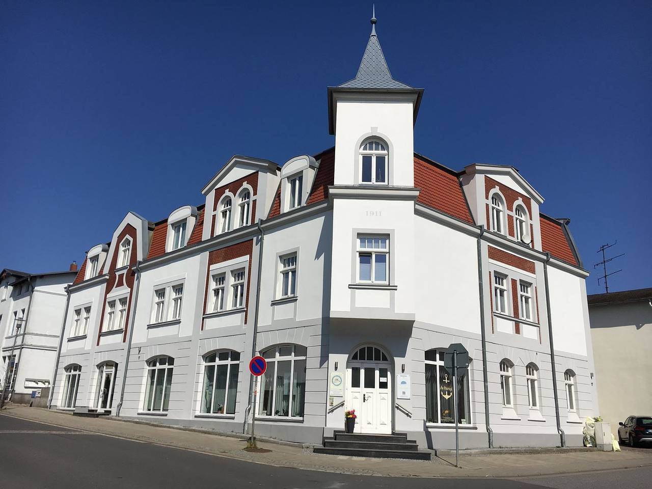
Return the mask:
[[[413,128],[423,89],[392,78],[376,34],[375,15],[371,23],[355,78],[328,89],[329,132],[335,135],[334,183],[414,186]]]

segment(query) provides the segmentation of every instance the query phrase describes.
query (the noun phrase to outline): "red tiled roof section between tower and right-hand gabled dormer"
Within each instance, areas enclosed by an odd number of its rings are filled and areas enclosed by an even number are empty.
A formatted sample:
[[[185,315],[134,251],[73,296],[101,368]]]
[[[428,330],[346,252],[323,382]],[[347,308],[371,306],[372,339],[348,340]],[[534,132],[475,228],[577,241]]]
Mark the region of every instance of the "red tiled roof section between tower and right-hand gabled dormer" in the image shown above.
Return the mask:
[[[417,202],[473,224],[457,175],[415,156],[414,186],[421,188]]]

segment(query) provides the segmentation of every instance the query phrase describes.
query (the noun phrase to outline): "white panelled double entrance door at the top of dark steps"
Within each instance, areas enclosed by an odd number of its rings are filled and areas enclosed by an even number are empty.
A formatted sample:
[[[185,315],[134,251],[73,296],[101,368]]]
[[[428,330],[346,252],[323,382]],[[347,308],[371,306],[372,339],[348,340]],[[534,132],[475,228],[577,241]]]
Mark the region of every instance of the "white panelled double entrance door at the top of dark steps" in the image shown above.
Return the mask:
[[[354,355],[353,358],[359,356]],[[374,357],[371,358],[374,360]],[[387,359],[384,353],[383,358]],[[346,369],[346,409],[355,409],[356,433],[391,434],[392,372],[389,361],[349,361]]]

